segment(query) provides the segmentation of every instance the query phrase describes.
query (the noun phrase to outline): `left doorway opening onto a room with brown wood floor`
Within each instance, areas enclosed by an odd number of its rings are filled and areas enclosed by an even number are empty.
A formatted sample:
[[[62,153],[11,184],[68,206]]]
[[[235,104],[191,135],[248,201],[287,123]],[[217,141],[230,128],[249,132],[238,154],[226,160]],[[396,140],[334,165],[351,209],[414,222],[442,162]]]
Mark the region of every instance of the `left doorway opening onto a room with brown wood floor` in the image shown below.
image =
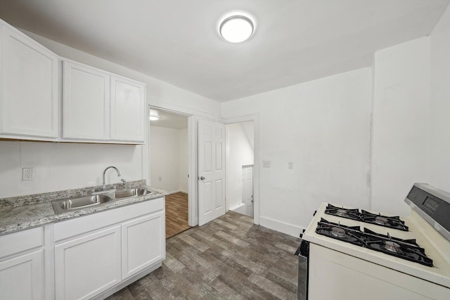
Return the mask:
[[[150,184],[169,195],[166,200],[166,238],[188,225],[188,116],[150,108]]]

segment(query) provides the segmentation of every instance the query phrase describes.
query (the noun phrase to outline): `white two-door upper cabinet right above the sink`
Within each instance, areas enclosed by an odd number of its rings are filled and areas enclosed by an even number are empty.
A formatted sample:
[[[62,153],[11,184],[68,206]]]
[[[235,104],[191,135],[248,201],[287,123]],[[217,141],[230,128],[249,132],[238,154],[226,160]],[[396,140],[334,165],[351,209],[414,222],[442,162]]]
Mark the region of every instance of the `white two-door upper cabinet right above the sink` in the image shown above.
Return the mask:
[[[146,86],[63,60],[63,139],[144,143]]]

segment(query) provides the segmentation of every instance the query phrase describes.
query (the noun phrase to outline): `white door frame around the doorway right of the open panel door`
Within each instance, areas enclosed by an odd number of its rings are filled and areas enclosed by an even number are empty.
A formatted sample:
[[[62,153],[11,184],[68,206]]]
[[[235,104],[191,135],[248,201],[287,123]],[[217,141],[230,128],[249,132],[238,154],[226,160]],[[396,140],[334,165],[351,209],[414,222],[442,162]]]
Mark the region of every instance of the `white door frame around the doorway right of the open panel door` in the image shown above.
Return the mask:
[[[255,141],[253,141],[253,223],[259,225],[259,113],[255,115],[244,115],[221,119],[221,122],[224,124],[251,121],[253,122],[253,133],[255,134]]]

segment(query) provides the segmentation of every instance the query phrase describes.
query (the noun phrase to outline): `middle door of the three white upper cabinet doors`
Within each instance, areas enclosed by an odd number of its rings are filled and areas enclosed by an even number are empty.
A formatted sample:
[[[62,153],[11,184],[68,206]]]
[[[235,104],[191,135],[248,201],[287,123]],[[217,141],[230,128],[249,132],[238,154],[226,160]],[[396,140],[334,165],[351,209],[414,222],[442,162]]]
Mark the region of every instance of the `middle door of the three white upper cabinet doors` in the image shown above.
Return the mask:
[[[63,61],[63,138],[110,139],[110,75]]]

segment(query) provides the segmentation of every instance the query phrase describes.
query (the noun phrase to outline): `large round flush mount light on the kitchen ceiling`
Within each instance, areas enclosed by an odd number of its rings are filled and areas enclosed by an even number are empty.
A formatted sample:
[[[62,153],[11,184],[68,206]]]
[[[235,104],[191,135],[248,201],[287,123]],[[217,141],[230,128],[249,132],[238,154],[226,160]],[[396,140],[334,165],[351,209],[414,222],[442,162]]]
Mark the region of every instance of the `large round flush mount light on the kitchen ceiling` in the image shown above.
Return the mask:
[[[243,15],[232,15],[223,20],[219,27],[221,37],[231,43],[240,43],[250,38],[253,34],[252,20]]]

